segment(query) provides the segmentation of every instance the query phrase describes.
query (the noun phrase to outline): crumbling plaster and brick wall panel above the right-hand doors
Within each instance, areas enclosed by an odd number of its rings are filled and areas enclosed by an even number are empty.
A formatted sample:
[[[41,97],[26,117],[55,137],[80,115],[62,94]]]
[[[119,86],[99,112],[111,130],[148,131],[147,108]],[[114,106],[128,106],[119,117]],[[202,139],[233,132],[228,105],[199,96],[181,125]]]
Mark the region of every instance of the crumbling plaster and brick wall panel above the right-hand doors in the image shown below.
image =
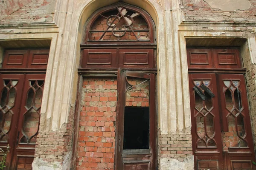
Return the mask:
[[[182,0],[185,22],[255,23],[256,0]]]

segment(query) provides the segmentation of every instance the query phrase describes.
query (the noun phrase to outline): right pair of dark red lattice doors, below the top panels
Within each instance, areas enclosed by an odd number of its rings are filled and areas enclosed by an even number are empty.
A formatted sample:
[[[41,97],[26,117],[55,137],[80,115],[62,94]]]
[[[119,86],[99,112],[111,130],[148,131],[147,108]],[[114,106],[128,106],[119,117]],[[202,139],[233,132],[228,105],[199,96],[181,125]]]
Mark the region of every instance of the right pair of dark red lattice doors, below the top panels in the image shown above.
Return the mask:
[[[254,170],[244,75],[189,74],[189,89],[195,168]]]

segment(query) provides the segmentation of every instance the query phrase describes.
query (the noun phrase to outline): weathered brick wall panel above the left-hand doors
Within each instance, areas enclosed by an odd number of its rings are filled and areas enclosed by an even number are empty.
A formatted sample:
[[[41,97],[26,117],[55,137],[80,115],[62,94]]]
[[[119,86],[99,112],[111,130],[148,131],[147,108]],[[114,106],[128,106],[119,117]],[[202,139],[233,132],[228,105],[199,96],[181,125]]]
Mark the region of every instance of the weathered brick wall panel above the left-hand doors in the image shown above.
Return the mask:
[[[55,0],[5,0],[0,3],[0,25],[17,26],[53,21]]]

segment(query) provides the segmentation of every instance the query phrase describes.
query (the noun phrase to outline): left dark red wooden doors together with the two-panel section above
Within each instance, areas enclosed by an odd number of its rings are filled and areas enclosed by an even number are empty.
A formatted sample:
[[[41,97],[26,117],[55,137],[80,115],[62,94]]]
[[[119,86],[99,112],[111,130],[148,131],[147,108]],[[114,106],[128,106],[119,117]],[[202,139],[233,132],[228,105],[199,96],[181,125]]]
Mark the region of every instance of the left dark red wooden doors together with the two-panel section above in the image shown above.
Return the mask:
[[[0,68],[0,147],[7,169],[32,169],[49,50],[6,50]],[[43,73],[43,74],[40,74]]]

